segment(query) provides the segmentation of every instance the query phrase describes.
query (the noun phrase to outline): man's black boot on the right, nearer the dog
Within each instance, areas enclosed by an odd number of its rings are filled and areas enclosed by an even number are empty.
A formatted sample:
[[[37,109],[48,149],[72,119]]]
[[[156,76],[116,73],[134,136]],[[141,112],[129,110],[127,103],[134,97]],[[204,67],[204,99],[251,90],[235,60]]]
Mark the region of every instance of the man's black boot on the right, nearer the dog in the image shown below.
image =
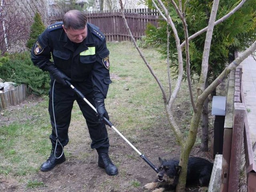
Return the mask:
[[[112,163],[107,153],[98,153],[98,166],[104,168],[110,176],[118,174],[117,167]]]

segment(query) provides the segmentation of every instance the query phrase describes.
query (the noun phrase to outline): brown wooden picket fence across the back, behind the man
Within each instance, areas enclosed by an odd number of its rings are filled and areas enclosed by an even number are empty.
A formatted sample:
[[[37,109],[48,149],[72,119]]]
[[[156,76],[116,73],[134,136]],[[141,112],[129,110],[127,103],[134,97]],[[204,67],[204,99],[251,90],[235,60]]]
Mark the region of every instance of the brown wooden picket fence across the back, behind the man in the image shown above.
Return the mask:
[[[150,9],[128,9],[124,15],[132,36],[137,40],[145,36],[148,24],[158,26],[158,13]],[[120,10],[86,12],[88,22],[100,27],[107,41],[130,41]],[[52,22],[60,21],[62,15],[52,16]]]

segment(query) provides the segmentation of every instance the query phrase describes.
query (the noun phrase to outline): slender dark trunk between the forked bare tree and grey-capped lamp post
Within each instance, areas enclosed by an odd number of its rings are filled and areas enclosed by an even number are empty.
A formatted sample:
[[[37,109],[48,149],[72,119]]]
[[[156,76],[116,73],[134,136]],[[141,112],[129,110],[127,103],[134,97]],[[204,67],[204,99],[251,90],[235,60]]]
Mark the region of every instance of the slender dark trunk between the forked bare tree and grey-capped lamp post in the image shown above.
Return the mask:
[[[205,83],[205,88],[208,87],[208,81]],[[202,136],[201,136],[201,151],[208,151],[208,129],[209,129],[209,120],[208,120],[208,97],[204,100],[204,106],[202,111]]]

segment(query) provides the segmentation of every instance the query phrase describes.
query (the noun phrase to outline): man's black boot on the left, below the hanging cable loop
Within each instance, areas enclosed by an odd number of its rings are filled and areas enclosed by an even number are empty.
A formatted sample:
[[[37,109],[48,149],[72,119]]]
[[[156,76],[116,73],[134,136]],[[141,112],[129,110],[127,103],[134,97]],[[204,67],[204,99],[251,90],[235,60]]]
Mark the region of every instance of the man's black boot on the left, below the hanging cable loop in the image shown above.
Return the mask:
[[[62,154],[62,147],[57,147],[56,148],[56,153],[55,153],[55,156],[54,156],[54,150],[55,150],[55,147],[52,147],[52,152],[50,154],[50,157],[48,158],[48,160],[46,162],[44,162],[42,165],[41,165],[41,168],[40,170],[43,171],[43,172],[46,172],[46,171],[50,171],[52,170],[57,164],[60,164],[60,163],[63,163],[64,161],[66,161],[66,158],[65,158],[65,155],[64,155],[64,152]],[[62,154],[62,156],[61,156]],[[60,157],[61,156],[61,157]],[[60,157],[60,158],[59,158]]]

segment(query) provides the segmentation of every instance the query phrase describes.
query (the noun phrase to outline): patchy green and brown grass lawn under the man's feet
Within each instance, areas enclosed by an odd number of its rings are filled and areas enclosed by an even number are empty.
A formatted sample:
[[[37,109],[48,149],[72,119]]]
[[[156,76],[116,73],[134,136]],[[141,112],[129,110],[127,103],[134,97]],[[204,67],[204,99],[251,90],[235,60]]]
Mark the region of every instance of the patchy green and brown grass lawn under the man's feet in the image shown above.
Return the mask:
[[[154,164],[158,165],[158,156],[178,157],[179,147],[166,120],[162,93],[136,48],[130,42],[111,42],[108,48],[112,84],[105,102],[110,121]],[[156,49],[147,48],[143,52],[168,90],[166,62]],[[186,133],[192,113],[185,83],[173,110]],[[119,174],[115,177],[104,174],[97,167],[97,154],[90,148],[86,123],[76,103],[69,129],[70,142],[65,147],[67,160],[42,173],[40,165],[51,150],[48,97],[30,96],[0,114],[1,191],[137,192],[155,176],[154,170],[112,129],[108,129],[110,156]]]

